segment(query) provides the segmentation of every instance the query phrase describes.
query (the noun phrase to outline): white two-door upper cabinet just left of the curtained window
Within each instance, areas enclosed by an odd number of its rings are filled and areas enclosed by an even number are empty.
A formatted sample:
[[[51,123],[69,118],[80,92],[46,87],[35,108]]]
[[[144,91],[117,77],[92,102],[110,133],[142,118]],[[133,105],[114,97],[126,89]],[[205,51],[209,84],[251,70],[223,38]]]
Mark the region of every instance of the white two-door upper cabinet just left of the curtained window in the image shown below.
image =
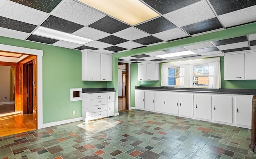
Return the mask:
[[[159,80],[159,63],[138,64],[138,80]]]

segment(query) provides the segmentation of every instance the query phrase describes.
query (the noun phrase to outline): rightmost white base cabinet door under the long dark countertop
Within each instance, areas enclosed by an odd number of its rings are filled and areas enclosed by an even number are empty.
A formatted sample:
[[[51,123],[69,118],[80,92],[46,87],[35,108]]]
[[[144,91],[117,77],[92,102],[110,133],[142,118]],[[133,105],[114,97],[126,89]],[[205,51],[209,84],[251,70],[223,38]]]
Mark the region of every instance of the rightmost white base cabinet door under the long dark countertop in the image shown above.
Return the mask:
[[[236,124],[252,126],[252,96],[236,96]]]

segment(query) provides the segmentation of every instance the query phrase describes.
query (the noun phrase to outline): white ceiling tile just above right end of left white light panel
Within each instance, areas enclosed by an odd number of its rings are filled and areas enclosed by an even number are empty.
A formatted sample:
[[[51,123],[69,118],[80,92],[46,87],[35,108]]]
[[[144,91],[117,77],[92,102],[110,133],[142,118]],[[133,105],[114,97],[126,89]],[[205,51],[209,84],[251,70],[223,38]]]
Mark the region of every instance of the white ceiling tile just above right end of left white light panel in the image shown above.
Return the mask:
[[[79,29],[78,31],[75,31],[72,34],[80,37],[85,37],[87,39],[92,39],[92,40],[102,39],[110,35],[109,33],[92,29],[91,27],[86,27],[86,26],[83,27],[82,29]]]

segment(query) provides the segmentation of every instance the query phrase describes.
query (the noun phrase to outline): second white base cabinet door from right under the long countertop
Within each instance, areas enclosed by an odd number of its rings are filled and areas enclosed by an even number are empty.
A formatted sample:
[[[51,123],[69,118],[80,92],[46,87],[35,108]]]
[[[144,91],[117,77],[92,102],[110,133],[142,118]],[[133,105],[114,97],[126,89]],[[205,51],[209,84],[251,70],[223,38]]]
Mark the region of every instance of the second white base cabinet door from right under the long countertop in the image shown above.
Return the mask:
[[[213,120],[232,123],[232,96],[212,96]]]

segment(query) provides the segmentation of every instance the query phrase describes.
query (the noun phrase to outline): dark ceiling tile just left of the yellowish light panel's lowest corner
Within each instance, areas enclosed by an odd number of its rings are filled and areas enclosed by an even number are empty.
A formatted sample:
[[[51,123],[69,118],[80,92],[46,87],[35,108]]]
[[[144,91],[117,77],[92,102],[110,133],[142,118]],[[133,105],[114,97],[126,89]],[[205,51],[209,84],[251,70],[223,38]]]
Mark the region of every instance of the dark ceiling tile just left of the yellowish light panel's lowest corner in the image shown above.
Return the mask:
[[[101,18],[100,20],[94,22],[93,24],[90,24],[89,27],[112,34],[117,31],[126,29],[130,26],[128,26],[127,24],[124,24],[118,20],[115,20],[113,18],[110,18],[109,16],[105,16],[105,17]]]

